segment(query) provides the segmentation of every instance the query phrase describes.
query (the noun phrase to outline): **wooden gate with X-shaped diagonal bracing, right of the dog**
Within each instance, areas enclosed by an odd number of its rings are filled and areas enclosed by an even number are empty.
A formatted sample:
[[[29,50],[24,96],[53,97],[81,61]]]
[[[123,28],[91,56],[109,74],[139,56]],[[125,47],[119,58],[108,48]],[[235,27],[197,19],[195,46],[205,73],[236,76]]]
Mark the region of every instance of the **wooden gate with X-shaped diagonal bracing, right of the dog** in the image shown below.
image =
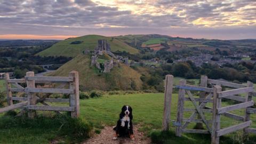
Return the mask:
[[[179,89],[179,98],[178,98],[178,107],[177,107],[177,121],[175,122],[176,130],[175,133],[178,137],[181,137],[181,133],[212,133],[211,129],[211,119],[206,119],[204,113],[212,113],[211,109],[205,109],[205,105],[207,102],[212,102],[213,89],[202,86],[193,86],[187,85],[186,80],[180,80],[179,85],[176,86]],[[194,95],[190,91],[199,91],[199,92],[207,92],[207,96],[205,98],[195,98]],[[185,97],[186,93],[188,97]],[[194,108],[184,108],[184,102],[191,101],[193,103]],[[199,105],[198,103],[199,102]],[[188,118],[183,118],[183,112],[192,111],[193,114]],[[196,119],[196,116],[199,115],[200,119]],[[184,123],[183,123],[184,122]],[[186,129],[188,124],[191,122],[196,123],[204,123],[206,125],[207,130],[196,130],[196,129]]]

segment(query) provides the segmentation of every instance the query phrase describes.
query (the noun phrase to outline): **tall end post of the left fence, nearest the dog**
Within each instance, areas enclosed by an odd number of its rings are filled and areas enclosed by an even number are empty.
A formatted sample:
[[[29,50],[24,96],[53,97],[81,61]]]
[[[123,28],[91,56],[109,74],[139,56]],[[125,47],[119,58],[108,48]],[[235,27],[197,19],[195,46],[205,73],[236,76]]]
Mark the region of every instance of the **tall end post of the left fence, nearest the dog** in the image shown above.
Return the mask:
[[[73,70],[69,76],[74,77],[74,81],[69,83],[69,89],[74,89],[74,94],[69,95],[69,106],[75,107],[75,111],[71,111],[71,117],[78,117],[80,113],[78,72]]]

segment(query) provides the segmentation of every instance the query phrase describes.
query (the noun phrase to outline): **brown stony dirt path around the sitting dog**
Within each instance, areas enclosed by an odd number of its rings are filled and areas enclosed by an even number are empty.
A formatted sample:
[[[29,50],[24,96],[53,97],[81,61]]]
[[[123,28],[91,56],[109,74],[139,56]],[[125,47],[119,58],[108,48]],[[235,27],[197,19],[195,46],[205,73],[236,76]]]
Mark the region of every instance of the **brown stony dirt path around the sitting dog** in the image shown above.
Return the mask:
[[[112,140],[114,135],[113,127],[111,126],[105,126],[104,129],[101,130],[100,134],[93,135],[92,138],[85,141],[84,144],[89,143],[99,143],[99,144],[132,144],[132,143],[141,143],[146,144],[150,143],[150,139],[144,136],[143,132],[138,131],[138,125],[133,125],[133,133],[135,140],[131,140],[130,138],[117,138],[117,140]]]

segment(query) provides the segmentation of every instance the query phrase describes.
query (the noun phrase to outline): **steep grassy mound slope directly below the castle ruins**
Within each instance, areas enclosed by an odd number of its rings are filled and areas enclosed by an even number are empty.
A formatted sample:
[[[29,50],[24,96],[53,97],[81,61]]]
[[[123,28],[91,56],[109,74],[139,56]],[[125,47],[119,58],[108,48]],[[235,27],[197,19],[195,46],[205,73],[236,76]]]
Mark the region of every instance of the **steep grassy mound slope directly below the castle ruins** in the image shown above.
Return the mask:
[[[98,73],[98,69],[90,67],[89,55],[78,55],[73,60],[49,74],[52,76],[68,76],[72,70],[79,72],[79,84],[85,90],[130,90],[141,89],[140,74],[134,69],[119,63],[110,73]]]

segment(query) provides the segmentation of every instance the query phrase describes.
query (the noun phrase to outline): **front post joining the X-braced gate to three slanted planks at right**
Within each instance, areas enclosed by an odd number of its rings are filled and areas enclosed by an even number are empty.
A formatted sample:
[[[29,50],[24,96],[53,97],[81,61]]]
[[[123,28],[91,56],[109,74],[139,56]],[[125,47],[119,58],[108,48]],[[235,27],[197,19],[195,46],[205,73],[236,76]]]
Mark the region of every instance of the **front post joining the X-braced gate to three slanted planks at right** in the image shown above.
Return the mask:
[[[221,107],[221,98],[219,98],[221,86],[215,85],[213,87],[213,106],[212,106],[212,142],[211,144],[219,144],[220,137],[217,137],[217,131],[220,130],[220,114],[218,108]]]

